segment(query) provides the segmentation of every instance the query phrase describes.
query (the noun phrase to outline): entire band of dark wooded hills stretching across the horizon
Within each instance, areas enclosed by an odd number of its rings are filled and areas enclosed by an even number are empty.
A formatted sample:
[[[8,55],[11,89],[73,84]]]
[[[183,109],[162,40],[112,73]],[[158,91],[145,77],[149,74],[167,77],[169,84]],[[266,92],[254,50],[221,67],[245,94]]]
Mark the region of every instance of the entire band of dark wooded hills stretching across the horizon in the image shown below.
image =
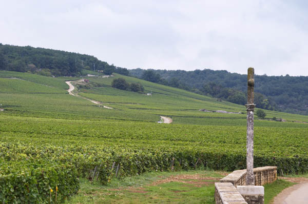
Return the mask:
[[[20,47],[0,43],[0,70],[45,76],[80,76],[91,71],[131,75],[154,83],[209,95],[232,103],[246,103],[247,76],[227,71],[127,70],[86,54],[60,50]],[[256,75],[257,108],[308,115],[307,76]]]

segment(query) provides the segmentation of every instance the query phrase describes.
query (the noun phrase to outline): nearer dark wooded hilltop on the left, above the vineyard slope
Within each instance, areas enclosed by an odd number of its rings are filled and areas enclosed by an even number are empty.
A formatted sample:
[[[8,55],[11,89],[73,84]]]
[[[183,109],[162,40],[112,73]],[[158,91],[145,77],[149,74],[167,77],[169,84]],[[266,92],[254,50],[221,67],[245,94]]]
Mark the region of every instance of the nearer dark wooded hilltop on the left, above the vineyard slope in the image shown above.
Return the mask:
[[[86,54],[60,50],[20,47],[0,43],[0,70],[29,72],[45,76],[82,75],[82,70],[117,72],[128,75],[126,68],[115,67]]]

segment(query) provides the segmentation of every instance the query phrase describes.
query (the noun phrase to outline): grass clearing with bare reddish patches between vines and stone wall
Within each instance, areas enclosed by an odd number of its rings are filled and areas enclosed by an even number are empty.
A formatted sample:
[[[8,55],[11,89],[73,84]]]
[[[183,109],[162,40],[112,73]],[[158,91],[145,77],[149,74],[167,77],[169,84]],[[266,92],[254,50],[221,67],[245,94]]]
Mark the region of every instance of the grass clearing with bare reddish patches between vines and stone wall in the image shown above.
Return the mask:
[[[202,170],[150,172],[140,176],[114,179],[107,186],[102,186],[96,181],[91,185],[89,180],[81,179],[78,195],[72,197],[67,203],[213,204],[215,203],[214,182],[217,182],[225,173]],[[199,179],[181,179],[187,176],[197,176]],[[176,178],[177,181],[170,178]]]

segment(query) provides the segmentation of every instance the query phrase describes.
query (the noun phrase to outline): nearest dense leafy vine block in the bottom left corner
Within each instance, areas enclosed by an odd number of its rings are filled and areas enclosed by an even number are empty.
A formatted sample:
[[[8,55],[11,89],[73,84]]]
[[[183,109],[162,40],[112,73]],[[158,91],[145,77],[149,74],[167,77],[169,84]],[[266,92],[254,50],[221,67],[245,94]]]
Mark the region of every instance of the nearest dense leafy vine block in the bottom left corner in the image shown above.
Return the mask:
[[[57,187],[56,201],[64,203],[78,192],[79,179],[73,166],[39,158],[32,160],[24,153],[12,151],[6,153],[6,158],[9,153],[22,160],[0,163],[0,202],[55,203]]]

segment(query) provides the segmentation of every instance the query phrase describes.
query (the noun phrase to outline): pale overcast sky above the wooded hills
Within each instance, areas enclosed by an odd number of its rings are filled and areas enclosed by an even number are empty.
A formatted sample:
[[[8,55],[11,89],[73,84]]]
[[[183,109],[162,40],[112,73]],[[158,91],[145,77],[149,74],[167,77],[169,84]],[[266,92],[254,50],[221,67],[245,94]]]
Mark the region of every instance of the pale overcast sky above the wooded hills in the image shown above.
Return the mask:
[[[128,69],[308,75],[308,1],[3,1],[0,43]]]

